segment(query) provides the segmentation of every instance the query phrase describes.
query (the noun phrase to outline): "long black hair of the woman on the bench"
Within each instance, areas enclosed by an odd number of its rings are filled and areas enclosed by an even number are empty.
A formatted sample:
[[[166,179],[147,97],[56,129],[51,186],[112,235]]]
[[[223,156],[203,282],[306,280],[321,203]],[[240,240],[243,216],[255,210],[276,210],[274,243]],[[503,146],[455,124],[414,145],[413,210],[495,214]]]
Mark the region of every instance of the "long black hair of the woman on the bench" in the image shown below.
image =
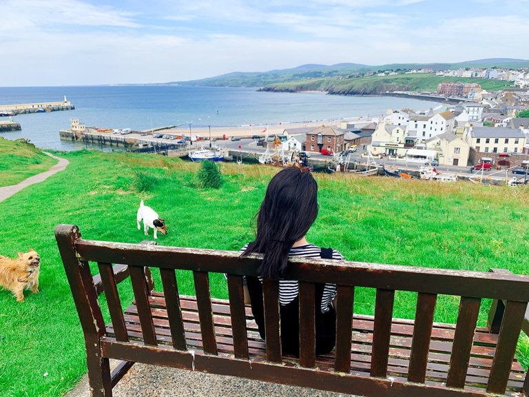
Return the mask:
[[[287,167],[273,176],[257,215],[256,240],[242,256],[264,254],[260,274],[280,278],[287,269],[289,251],[318,216],[318,183],[312,173]]]

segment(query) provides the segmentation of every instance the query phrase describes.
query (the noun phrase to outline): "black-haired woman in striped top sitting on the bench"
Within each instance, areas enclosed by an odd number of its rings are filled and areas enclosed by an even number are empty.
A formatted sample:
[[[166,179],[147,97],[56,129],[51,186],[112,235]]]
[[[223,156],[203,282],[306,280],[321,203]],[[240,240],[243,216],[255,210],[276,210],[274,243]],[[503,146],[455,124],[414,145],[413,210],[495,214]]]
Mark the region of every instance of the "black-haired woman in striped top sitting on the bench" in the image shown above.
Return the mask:
[[[284,168],[274,176],[264,195],[257,216],[256,240],[242,248],[242,256],[264,254],[260,277],[247,277],[246,283],[261,338],[264,334],[262,278],[280,279],[279,300],[282,352],[299,356],[298,281],[283,280],[289,257],[343,260],[340,252],[309,244],[305,238],[318,216],[318,184],[311,172],[298,167]],[[332,305],[336,285],[315,287],[316,354],[330,352],[335,345],[336,315]]]

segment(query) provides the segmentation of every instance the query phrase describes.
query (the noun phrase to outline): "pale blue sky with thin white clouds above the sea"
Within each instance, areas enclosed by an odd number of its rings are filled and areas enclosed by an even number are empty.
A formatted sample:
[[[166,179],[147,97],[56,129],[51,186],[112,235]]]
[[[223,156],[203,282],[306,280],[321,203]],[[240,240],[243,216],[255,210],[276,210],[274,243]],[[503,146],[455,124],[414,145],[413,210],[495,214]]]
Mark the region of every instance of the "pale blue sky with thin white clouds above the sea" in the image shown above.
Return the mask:
[[[0,87],[529,59],[529,0],[0,0]]]

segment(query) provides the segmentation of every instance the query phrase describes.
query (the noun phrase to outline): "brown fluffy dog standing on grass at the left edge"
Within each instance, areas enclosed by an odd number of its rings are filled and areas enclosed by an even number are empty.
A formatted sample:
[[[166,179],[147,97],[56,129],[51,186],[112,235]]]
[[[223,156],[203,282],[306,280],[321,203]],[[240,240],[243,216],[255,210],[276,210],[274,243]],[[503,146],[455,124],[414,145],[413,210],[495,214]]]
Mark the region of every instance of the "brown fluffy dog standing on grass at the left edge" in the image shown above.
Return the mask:
[[[17,302],[24,301],[24,289],[31,289],[33,294],[39,293],[39,265],[41,258],[30,248],[30,252],[10,259],[0,255],[0,287],[9,289]]]

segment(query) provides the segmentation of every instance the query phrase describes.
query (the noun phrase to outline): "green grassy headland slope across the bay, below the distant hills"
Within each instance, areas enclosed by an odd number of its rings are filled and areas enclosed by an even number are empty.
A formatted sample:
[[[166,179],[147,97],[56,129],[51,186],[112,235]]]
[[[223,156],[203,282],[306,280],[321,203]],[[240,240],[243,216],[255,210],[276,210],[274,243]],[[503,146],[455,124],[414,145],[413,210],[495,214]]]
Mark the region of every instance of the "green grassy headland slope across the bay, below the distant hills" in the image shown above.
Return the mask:
[[[367,76],[337,78],[326,77],[311,80],[294,80],[287,83],[267,85],[272,90],[321,90],[332,94],[380,94],[386,91],[428,91],[437,92],[437,85],[444,81],[477,83],[484,90],[502,90],[512,86],[512,81],[441,77],[435,74],[397,74],[395,76]]]

